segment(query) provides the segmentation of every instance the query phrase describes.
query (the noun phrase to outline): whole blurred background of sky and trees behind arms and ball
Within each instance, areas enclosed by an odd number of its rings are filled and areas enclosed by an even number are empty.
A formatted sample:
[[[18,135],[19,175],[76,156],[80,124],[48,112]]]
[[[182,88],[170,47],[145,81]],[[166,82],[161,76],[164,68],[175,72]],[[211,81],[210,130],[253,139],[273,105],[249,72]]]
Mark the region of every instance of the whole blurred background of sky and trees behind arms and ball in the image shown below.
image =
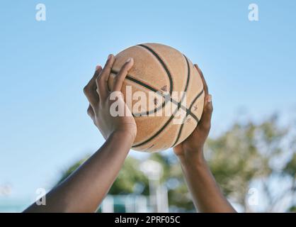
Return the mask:
[[[22,211],[103,144],[82,89],[108,54],[137,43],[171,45],[203,70],[214,105],[205,156],[234,207],[296,211],[295,1],[0,6],[0,212]],[[131,151],[98,208],[151,211],[195,211],[172,150]]]

